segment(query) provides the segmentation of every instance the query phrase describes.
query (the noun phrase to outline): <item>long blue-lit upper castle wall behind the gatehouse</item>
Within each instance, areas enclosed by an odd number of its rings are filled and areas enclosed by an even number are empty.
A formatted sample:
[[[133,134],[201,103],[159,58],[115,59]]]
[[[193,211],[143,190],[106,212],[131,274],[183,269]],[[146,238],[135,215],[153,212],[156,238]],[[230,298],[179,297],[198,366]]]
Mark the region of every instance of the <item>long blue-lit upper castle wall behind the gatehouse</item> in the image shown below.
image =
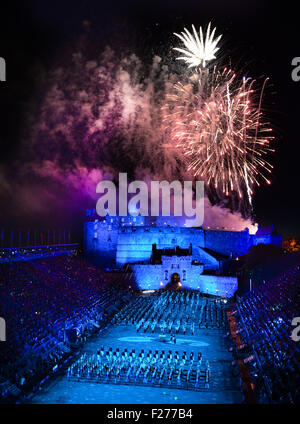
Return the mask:
[[[111,221],[111,222],[110,222]],[[203,230],[186,227],[122,226],[116,219],[105,222],[86,222],[84,225],[84,251],[87,256],[98,257],[107,265],[149,261],[152,245],[157,249],[188,249],[194,252],[208,248],[214,252],[236,257],[248,253],[258,243],[281,244],[281,236],[255,236],[244,231]]]

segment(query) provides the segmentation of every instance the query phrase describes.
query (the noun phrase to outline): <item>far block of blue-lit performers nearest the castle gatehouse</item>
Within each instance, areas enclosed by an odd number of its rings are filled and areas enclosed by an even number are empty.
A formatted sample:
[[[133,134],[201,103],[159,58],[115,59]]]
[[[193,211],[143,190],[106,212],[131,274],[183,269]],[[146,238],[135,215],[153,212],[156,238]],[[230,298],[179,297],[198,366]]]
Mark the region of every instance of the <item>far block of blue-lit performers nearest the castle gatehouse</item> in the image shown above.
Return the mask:
[[[195,334],[201,328],[223,328],[226,323],[221,299],[198,291],[160,291],[140,296],[116,316],[116,323],[135,324],[139,332]]]

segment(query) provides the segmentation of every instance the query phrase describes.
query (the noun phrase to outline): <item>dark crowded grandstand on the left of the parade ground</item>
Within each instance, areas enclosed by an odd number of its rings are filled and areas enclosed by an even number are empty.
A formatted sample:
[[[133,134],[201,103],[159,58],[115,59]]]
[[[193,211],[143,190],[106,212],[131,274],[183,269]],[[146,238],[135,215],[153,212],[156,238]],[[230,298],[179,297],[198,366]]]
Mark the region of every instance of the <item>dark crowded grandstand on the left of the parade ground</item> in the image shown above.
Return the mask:
[[[73,256],[1,264],[7,341],[1,343],[0,376],[17,388],[37,384],[69,355],[66,329],[76,329],[79,341],[86,338],[125,298],[128,291],[111,287],[97,268]]]

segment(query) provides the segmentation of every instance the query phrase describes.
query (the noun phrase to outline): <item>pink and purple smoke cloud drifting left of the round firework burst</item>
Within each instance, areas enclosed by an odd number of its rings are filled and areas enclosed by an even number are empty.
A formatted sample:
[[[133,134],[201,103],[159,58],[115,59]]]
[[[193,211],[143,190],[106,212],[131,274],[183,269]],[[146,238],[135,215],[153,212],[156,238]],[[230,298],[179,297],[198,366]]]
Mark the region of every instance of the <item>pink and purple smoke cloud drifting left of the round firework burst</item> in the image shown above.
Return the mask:
[[[87,199],[94,204],[100,179],[121,171],[146,181],[191,179],[183,166],[186,156],[165,147],[173,141],[161,123],[161,106],[166,94],[174,95],[177,73],[155,56],[145,78],[143,62],[135,54],[120,59],[106,48],[91,60],[86,50],[79,46],[66,55],[64,65],[37,78],[40,96],[28,107],[14,178],[11,165],[0,166],[1,205],[16,211],[17,218],[21,213],[54,218],[61,210],[60,219],[69,222]],[[210,72],[203,74],[205,90],[210,90]],[[183,112],[184,106],[179,118]],[[215,197],[211,200],[215,203]],[[250,220],[225,203],[214,205],[205,198],[205,225],[251,228]]]

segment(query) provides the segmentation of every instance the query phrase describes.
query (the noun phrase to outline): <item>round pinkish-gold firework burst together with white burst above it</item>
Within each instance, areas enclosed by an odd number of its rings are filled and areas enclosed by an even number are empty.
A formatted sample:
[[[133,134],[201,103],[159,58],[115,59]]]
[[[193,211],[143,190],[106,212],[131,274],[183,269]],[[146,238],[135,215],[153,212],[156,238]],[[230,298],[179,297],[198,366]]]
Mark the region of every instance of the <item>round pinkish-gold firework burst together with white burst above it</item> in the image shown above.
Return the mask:
[[[164,120],[195,177],[220,197],[235,192],[251,205],[253,187],[261,180],[270,184],[272,170],[266,160],[273,137],[261,111],[263,89],[256,91],[254,80],[238,78],[231,69],[204,68],[220,37],[213,40],[215,29],[210,34],[209,25],[203,43],[201,28],[200,39],[193,30],[195,39],[189,33],[186,39],[194,56],[190,53],[186,61],[196,66],[202,60],[202,66],[185,84],[174,85],[163,107]]]

